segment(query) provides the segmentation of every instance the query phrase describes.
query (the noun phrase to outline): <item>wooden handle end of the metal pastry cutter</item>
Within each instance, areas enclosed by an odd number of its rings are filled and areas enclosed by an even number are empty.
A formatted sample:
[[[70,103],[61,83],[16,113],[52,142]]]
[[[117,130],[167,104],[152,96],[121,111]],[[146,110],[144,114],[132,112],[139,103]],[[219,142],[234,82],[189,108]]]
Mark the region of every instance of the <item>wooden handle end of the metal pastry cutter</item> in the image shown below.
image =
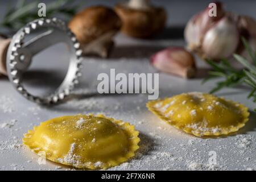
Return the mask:
[[[6,53],[11,39],[7,36],[0,34],[0,76],[7,75],[6,71]]]

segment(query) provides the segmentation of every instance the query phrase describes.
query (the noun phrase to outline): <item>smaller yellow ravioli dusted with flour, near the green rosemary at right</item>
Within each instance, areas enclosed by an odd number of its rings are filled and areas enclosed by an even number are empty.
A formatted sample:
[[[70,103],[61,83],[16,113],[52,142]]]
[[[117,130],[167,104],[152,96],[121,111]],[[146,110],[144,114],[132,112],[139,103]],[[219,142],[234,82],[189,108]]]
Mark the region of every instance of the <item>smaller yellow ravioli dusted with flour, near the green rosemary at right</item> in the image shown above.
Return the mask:
[[[200,92],[150,101],[147,107],[167,123],[197,137],[236,132],[249,118],[248,108],[242,104]]]

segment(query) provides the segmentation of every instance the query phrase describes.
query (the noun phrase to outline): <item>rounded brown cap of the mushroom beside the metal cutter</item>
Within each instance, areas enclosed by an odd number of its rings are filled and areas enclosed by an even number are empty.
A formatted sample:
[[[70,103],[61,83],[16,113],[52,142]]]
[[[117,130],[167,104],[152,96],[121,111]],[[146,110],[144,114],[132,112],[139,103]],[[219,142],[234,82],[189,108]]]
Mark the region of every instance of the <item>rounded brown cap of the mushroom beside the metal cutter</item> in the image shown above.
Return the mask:
[[[69,28],[81,44],[88,44],[109,31],[119,31],[121,19],[114,10],[105,6],[92,6],[76,14]]]

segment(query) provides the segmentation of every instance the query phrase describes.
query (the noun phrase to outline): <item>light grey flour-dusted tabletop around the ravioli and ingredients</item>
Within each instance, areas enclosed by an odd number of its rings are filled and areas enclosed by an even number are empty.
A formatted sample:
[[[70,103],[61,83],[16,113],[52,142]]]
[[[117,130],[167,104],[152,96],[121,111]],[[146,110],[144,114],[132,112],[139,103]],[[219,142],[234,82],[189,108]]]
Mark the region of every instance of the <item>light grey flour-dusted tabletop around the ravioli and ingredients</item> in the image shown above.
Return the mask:
[[[1,15],[6,7],[5,2],[0,2]],[[113,6],[116,2],[86,1],[85,6],[96,4]],[[51,162],[39,165],[38,156],[32,154],[26,147],[20,146],[22,136],[27,130],[32,129],[32,126],[39,125],[42,121],[77,113],[104,113],[109,117],[130,122],[140,131],[141,149],[137,152],[137,157],[130,160],[129,163],[110,169],[256,169],[256,114],[253,111],[251,111],[250,121],[238,133],[227,137],[202,139],[176,130],[156,118],[145,107],[147,95],[109,94],[98,96],[96,94],[98,73],[109,73],[110,68],[116,68],[117,72],[124,73],[157,72],[151,67],[148,57],[164,47],[184,46],[182,36],[185,23],[197,11],[204,9],[210,1],[153,2],[167,9],[166,30],[152,40],[138,40],[118,34],[115,37],[116,47],[110,59],[85,58],[81,84],[76,88],[74,98],[65,104],[53,107],[38,106],[20,96],[7,78],[0,78],[0,125],[10,123],[13,119],[16,120],[10,128],[0,129],[1,170],[56,169],[56,166],[59,165]],[[228,10],[256,18],[255,1],[223,2]],[[30,78],[28,85],[43,85],[45,90],[48,90],[52,86],[49,82],[60,81],[65,66],[67,66],[66,55],[67,53],[63,52],[62,47],[56,46],[37,56],[31,67],[34,72],[28,77]],[[59,61],[63,62],[60,64]],[[199,59],[197,59],[197,65],[199,73],[192,80],[160,73],[160,97],[170,97],[191,91],[209,92],[214,86],[214,82],[201,85],[207,67]],[[38,69],[43,68],[48,71],[39,72]],[[38,77],[47,78],[47,81],[39,82],[36,79]],[[35,89],[38,90],[38,88]],[[247,93],[249,93],[249,89],[235,88],[222,90],[217,95],[241,102],[252,110],[256,105],[246,99]],[[241,143],[246,143],[246,141],[247,144],[241,146]],[[216,152],[216,166],[209,166],[210,151]],[[61,166],[60,169],[71,168]]]

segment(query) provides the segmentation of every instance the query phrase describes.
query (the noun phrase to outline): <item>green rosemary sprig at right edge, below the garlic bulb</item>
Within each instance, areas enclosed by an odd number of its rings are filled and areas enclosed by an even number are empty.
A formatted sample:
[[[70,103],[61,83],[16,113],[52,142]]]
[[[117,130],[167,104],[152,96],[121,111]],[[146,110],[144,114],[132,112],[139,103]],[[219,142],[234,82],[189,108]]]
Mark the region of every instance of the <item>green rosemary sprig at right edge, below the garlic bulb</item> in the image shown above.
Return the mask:
[[[243,69],[237,69],[226,59],[222,59],[220,63],[206,60],[213,71],[209,71],[209,77],[205,78],[203,83],[212,78],[224,78],[224,80],[217,82],[216,86],[210,90],[210,93],[217,92],[225,87],[246,84],[251,88],[251,92],[247,97],[252,97],[253,101],[256,102],[256,52],[251,49],[244,38],[242,38],[242,42],[253,61],[250,63],[250,61],[246,60],[244,57],[234,54],[234,58],[244,67]]]

